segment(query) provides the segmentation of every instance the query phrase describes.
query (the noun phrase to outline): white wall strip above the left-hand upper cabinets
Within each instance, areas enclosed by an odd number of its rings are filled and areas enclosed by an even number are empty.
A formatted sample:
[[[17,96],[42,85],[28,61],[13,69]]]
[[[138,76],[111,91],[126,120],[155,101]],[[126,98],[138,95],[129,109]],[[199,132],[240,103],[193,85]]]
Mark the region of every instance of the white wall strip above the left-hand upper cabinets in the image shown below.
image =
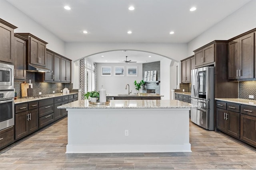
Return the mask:
[[[46,48],[65,56],[65,43],[56,35],[39,25],[16,7],[5,0],[0,0],[0,18],[15,25],[14,33],[31,33],[32,35],[46,41]]]

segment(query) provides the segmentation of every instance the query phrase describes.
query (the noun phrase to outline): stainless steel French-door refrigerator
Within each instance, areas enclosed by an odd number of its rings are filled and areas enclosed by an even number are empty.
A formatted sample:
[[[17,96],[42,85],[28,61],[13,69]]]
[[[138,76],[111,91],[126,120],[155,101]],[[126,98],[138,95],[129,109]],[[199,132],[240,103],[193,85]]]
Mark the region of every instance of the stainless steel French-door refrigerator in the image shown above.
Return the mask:
[[[191,121],[214,130],[214,66],[191,70]]]

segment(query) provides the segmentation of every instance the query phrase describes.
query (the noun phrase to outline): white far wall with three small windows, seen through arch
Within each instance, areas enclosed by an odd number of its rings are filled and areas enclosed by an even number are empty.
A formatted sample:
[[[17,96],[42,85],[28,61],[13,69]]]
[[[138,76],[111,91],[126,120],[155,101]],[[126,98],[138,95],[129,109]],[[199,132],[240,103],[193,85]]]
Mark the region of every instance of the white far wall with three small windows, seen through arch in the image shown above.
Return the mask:
[[[129,84],[130,91],[132,90],[132,93],[136,93],[134,81],[137,82],[143,80],[142,79],[142,64],[106,64],[106,63],[97,63],[97,79],[98,79],[98,87],[97,91],[101,89],[101,86],[103,85],[103,88],[106,89],[107,94],[128,94],[128,88],[125,89],[126,84]],[[105,77],[101,76],[101,67],[102,66],[112,66],[112,76],[111,77]],[[115,66],[125,66],[124,74],[125,76],[114,76],[114,67]],[[127,66],[138,66],[138,76],[127,76]],[[142,89],[140,89],[142,90]],[[141,91],[140,91],[141,92]]]

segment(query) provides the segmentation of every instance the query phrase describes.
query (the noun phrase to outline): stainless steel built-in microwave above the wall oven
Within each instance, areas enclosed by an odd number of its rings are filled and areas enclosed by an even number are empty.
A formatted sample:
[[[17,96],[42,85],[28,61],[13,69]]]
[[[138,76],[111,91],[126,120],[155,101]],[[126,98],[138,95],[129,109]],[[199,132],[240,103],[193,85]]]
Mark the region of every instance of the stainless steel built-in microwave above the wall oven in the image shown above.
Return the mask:
[[[0,63],[0,90],[14,89],[14,66]]]

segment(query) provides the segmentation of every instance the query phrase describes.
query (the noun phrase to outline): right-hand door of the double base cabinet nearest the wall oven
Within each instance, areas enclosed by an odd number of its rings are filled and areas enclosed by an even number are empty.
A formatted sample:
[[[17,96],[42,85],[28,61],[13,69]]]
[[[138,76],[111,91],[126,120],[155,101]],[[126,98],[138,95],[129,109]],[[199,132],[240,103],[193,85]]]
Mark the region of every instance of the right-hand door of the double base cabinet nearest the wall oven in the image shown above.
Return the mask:
[[[31,133],[38,129],[38,109],[29,110],[28,114],[28,133]]]

